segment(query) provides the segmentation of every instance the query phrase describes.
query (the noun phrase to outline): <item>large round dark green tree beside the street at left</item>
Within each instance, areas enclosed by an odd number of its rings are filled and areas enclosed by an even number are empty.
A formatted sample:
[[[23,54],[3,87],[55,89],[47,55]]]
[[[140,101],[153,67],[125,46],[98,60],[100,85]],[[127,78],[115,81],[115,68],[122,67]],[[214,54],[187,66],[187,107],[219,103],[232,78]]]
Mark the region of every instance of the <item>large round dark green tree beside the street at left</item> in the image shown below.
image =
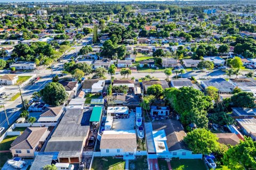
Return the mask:
[[[48,83],[40,91],[40,95],[46,104],[59,106],[62,101],[67,99],[67,92],[60,83]]]

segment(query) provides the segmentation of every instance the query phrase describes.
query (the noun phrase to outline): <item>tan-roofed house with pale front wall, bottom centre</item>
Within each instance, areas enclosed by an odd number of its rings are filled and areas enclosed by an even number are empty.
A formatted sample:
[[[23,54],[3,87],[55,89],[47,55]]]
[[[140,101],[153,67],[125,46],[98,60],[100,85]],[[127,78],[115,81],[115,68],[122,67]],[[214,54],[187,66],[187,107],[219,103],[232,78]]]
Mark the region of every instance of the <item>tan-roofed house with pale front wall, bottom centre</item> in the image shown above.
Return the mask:
[[[103,131],[100,140],[100,156],[118,156],[135,159],[137,138],[135,130]]]

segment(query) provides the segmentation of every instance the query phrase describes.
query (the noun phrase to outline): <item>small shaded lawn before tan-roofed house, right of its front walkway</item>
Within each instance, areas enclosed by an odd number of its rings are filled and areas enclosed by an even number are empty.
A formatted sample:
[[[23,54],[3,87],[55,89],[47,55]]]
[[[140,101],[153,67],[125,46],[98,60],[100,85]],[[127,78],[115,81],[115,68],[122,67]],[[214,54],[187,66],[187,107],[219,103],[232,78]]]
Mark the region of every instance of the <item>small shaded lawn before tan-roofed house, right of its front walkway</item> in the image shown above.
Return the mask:
[[[148,169],[147,156],[137,156],[135,160],[129,160],[130,170],[145,170]]]

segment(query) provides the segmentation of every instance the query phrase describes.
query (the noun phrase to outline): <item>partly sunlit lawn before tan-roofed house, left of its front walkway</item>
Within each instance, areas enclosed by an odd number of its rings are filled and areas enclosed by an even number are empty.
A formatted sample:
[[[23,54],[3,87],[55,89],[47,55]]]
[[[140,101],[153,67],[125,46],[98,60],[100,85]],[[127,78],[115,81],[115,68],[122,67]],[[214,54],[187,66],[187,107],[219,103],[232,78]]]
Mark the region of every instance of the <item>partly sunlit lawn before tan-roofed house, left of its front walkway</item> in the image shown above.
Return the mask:
[[[102,158],[105,158],[108,161],[102,160]],[[125,161],[122,158],[113,159],[112,157],[94,157],[91,169],[92,170],[99,170],[99,169],[121,170],[124,168],[125,168]]]

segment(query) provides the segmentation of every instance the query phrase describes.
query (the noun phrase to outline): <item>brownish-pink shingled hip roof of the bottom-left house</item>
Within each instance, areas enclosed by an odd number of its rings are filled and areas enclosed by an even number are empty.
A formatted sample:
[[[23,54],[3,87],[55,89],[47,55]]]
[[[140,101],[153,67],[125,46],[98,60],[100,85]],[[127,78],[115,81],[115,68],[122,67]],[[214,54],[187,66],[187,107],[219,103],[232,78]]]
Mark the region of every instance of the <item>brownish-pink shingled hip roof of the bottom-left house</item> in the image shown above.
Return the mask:
[[[46,127],[27,128],[12,142],[10,149],[34,149],[46,131]]]

